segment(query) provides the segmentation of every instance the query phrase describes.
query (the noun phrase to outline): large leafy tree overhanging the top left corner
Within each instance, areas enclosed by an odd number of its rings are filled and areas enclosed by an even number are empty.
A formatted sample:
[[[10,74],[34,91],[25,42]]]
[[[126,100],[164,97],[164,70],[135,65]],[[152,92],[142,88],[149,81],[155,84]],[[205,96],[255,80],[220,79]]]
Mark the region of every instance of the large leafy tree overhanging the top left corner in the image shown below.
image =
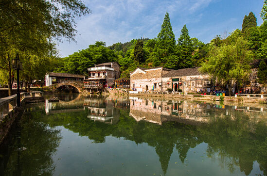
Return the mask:
[[[1,69],[8,71],[9,95],[14,80],[10,63],[15,55],[25,51],[38,55],[62,37],[74,40],[75,17],[89,12],[80,0],[1,0],[0,60]]]

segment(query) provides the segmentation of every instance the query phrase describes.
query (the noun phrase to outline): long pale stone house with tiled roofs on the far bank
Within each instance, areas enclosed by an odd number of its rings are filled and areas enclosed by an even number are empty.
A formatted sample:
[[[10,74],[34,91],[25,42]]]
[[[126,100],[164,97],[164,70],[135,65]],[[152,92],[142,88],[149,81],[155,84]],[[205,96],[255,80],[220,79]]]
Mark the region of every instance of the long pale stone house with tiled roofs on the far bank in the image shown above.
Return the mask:
[[[200,74],[198,68],[183,68],[178,70],[163,67],[140,68],[130,73],[130,88],[139,92],[168,91],[185,93],[210,92],[212,82],[209,75]]]

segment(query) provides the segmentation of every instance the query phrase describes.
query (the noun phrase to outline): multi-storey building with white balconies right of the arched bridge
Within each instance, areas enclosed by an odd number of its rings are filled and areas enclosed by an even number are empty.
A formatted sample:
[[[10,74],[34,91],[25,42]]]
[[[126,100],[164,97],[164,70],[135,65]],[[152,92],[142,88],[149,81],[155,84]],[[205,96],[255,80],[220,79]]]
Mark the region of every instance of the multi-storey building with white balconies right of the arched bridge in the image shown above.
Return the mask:
[[[113,85],[113,80],[120,78],[120,65],[118,63],[97,64],[88,68],[89,77],[84,80],[85,88],[102,88]]]

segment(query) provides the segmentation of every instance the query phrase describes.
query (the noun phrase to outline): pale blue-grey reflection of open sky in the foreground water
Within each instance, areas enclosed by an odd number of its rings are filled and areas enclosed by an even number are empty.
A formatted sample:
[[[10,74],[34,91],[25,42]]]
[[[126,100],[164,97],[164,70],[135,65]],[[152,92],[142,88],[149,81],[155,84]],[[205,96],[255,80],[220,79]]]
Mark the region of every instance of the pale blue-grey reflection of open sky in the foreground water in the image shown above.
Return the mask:
[[[159,156],[154,147],[146,143],[135,144],[123,138],[106,137],[105,143],[94,144],[86,136],[79,136],[70,130],[60,127],[61,140],[57,154],[53,157],[55,163],[54,175],[68,176],[146,176],[163,175]],[[214,158],[206,155],[208,144],[201,143],[190,148],[187,157],[182,163],[178,151],[173,149],[166,175],[193,175],[193,176],[227,176],[243,175],[238,166],[233,166],[230,173],[227,166],[221,167],[218,153]],[[250,175],[263,174],[255,161]]]

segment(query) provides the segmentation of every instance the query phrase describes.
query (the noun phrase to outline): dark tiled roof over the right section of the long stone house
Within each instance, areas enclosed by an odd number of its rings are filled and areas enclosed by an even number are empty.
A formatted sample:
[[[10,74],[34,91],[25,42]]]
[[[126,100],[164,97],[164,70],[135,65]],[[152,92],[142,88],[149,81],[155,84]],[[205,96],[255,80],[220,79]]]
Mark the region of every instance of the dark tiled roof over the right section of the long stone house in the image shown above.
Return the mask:
[[[193,76],[193,75],[201,75],[198,71],[199,67],[194,68],[182,68],[174,71],[170,71],[169,73],[163,75],[163,78],[173,78],[178,76]]]

